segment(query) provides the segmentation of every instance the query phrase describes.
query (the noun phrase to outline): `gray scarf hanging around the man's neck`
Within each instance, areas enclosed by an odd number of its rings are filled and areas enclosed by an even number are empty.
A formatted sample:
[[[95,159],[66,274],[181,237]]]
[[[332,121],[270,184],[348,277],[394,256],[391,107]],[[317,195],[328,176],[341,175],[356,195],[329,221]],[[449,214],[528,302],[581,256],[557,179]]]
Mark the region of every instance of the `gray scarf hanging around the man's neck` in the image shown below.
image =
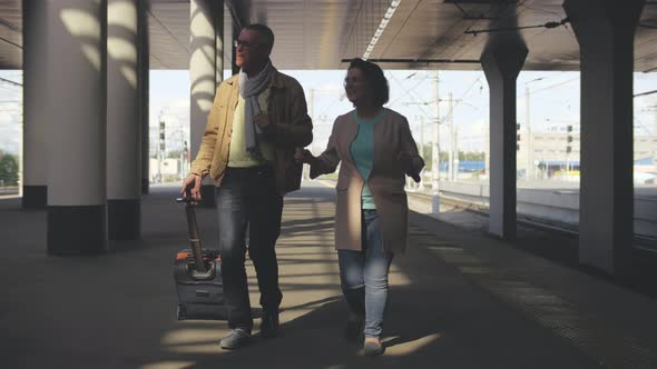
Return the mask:
[[[251,153],[259,152],[258,139],[263,134],[262,129],[254,120],[262,112],[257,97],[269,87],[269,78],[275,71],[276,68],[272,66],[272,61],[267,62],[265,68],[254,78],[248,78],[244,71],[239,71],[239,96],[246,102],[244,110],[244,141],[246,143],[246,151]]]

